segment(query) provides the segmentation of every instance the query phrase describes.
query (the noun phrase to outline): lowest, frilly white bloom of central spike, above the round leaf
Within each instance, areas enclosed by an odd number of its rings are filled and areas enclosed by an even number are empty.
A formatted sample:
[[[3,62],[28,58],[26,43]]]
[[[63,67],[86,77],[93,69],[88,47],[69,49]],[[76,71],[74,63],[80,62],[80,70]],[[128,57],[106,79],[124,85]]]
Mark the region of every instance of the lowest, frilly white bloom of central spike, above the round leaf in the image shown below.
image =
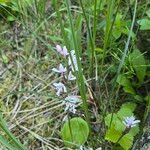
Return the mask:
[[[77,96],[67,96],[63,104],[65,104],[65,111],[76,113],[77,103],[80,102],[80,99]]]

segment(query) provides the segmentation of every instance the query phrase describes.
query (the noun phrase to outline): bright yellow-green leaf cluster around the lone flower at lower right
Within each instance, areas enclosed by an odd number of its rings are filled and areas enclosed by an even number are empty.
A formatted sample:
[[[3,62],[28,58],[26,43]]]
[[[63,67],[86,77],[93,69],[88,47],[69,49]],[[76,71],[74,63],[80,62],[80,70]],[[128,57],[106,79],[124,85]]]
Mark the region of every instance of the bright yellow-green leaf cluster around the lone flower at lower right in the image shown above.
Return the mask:
[[[129,150],[132,147],[134,136],[139,132],[139,127],[135,126],[125,132],[126,127],[123,124],[123,120],[125,117],[132,116],[135,108],[136,104],[125,103],[117,113],[111,113],[105,117],[105,124],[108,126],[105,135],[106,140],[119,144],[125,150]]]

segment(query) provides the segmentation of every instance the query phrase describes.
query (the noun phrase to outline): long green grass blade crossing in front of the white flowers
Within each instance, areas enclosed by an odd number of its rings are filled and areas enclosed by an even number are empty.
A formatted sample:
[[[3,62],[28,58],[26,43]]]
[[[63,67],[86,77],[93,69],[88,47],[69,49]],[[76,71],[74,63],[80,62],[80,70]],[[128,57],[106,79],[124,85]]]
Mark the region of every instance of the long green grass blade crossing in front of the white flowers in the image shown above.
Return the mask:
[[[77,41],[75,38],[75,31],[74,31],[74,25],[73,25],[69,0],[65,0],[65,2],[66,2],[66,6],[67,6],[69,23],[70,23],[70,28],[71,28],[71,32],[72,32],[73,44],[74,44],[74,49],[75,49],[75,54],[76,54],[76,59],[77,59],[77,65],[78,65],[78,72],[76,72],[77,77],[78,77],[77,84],[78,84],[81,98],[83,101],[83,109],[85,112],[86,121],[89,124],[88,105],[87,105],[87,100],[86,100],[86,89],[85,89],[84,77],[83,77],[82,66],[81,66],[81,61],[80,61],[80,53],[79,53]]]

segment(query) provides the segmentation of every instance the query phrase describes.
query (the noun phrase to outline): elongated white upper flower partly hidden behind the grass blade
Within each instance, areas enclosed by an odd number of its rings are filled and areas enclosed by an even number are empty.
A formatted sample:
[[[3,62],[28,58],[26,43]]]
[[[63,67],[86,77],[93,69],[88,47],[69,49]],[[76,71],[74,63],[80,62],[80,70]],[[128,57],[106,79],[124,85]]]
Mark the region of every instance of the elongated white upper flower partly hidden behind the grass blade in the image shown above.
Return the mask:
[[[71,50],[70,51],[69,60],[68,60],[68,65],[71,66],[72,71],[74,72],[75,70],[78,71],[78,64],[77,64],[77,59],[75,55],[75,51]],[[74,70],[75,69],[75,70]]]

